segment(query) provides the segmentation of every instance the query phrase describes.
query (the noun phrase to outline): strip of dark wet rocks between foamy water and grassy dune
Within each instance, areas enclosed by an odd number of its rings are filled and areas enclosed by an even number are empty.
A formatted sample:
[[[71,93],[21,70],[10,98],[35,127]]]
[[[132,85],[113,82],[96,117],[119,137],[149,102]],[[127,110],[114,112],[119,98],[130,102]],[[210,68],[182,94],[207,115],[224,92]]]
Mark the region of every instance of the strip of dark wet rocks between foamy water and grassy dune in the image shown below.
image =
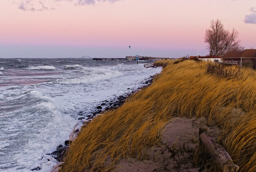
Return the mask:
[[[91,113],[84,113],[83,111],[80,111],[77,115],[81,116],[78,118],[78,120],[80,120],[83,124],[86,124],[88,122],[90,122],[93,118],[95,118],[97,115],[99,115],[100,113],[102,113],[103,111],[109,111],[112,109],[117,109],[118,107],[120,107],[121,105],[124,104],[126,98],[128,98],[129,96],[131,96],[132,94],[136,93],[137,91],[141,90],[144,87],[148,87],[149,85],[152,84],[153,82],[153,78],[154,76],[150,76],[147,80],[145,81],[141,81],[141,83],[143,84],[142,87],[139,87],[137,90],[132,90],[132,91],[128,91],[128,93],[121,95],[121,96],[116,96],[115,98],[113,98],[112,100],[104,100],[103,102],[101,102],[101,105],[98,105],[95,107],[95,110],[92,111]],[[130,88],[127,88],[128,90]],[[79,129],[76,129],[74,131],[74,134],[79,133]],[[64,157],[65,157],[65,153],[66,151],[69,149],[70,144],[72,143],[71,140],[66,140],[64,142],[64,146],[63,145],[59,145],[57,146],[56,150],[52,153],[47,153],[46,155],[51,155],[52,157],[54,157],[57,161],[59,162],[63,162]],[[36,167],[31,169],[32,171],[34,170],[40,170],[40,167]]]

